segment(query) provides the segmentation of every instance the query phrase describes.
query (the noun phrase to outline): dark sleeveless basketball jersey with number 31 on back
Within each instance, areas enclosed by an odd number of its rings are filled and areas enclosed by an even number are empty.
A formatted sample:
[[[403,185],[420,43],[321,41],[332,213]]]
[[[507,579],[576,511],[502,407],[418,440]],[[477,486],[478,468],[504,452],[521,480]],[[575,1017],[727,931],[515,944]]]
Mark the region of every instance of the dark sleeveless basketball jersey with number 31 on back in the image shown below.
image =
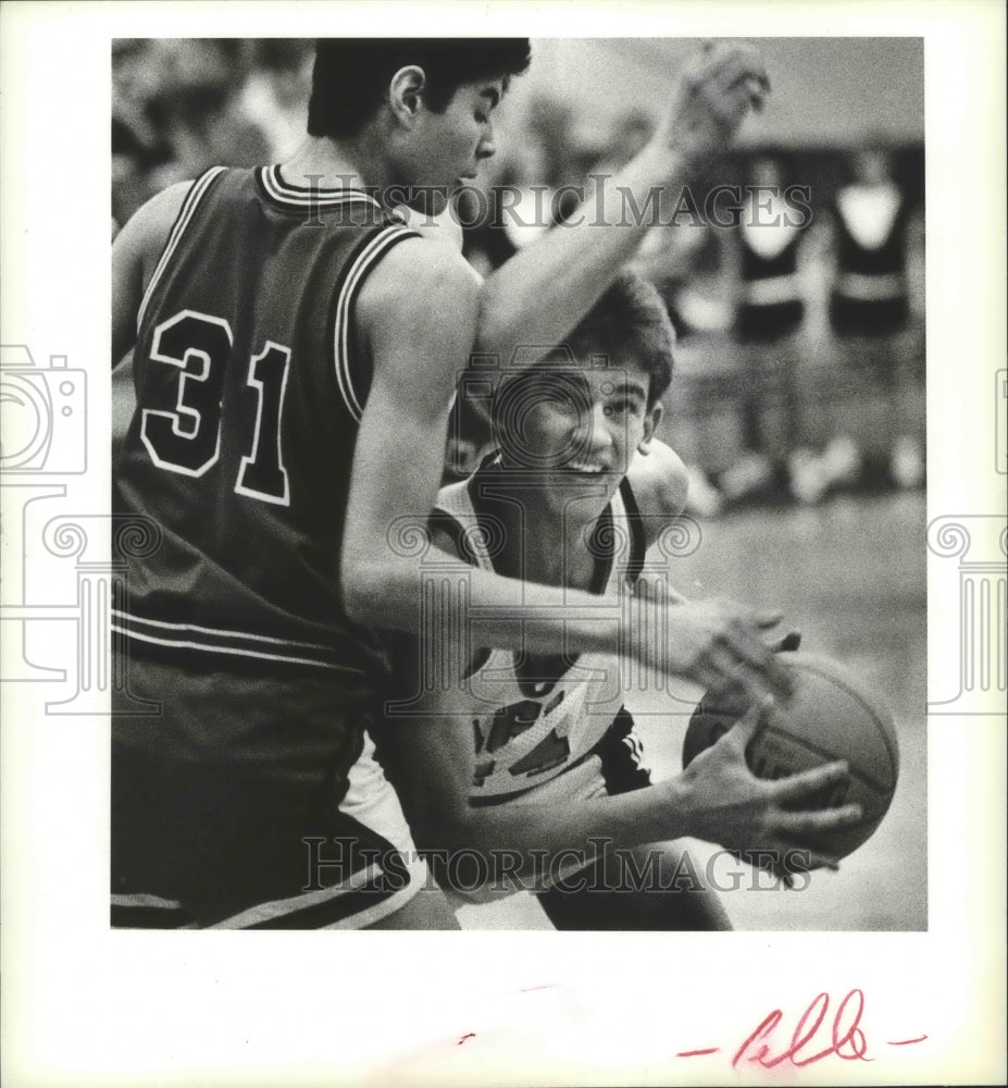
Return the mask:
[[[379,644],[346,617],[338,577],[371,381],[354,302],[415,236],[366,194],[297,188],[276,166],[192,185],[140,308],[115,473],[116,512],[161,530],[115,602],[138,652],[373,684]]]

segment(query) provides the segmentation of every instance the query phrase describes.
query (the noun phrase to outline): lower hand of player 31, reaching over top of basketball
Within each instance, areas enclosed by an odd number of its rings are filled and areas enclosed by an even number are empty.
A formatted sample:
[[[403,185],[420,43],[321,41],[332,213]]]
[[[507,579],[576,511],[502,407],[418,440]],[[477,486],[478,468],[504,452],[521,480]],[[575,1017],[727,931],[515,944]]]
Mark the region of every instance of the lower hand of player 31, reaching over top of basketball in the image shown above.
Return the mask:
[[[780,613],[718,598],[686,602],[662,584],[642,580],[637,586],[640,614],[632,630],[638,660],[693,680],[712,697],[731,695],[739,715],[771,695],[787,701],[793,687],[787,664],[762,639],[780,623]]]

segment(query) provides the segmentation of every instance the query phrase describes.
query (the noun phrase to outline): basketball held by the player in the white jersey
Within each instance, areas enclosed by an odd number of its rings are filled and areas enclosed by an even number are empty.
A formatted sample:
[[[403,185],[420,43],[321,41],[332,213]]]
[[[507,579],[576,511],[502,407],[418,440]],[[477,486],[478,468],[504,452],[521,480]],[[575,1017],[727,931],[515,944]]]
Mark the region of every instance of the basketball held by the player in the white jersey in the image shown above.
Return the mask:
[[[860,805],[859,823],[808,841],[814,850],[846,857],[871,838],[893,800],[899,772],[893,716],[873,691],[836,662],[805,653],[787,654],[785,659],[794,676],[794,696],[787,706],[774,705],[763,715],[746,762],[760,778],[784,778],[845,759],[849,782],[831,786],[796,807]],[[684,767],[738,720],[739,709],[731,704],[724,696],[720,703],[701,700],[683,742]]]

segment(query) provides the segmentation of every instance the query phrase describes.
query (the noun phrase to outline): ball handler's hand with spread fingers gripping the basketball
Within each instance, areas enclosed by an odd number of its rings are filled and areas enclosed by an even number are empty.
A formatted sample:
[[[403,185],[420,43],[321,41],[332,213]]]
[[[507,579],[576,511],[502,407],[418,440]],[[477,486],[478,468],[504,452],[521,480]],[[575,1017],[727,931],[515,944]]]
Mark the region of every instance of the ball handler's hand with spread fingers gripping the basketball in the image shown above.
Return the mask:
[[[746,746],[763,708],[750,710],[683,771],[680,803],[689,812],[688,833],[720,843],[777,875],[787,871],[785,860],[798,853],[801,869],[836,868],[835,858],[808,843],[823,831],[857,823],[860,806],[802,809],[800,805],[845,779],[847,765],[824,764],[775,780],[757,778],[746,763]]]

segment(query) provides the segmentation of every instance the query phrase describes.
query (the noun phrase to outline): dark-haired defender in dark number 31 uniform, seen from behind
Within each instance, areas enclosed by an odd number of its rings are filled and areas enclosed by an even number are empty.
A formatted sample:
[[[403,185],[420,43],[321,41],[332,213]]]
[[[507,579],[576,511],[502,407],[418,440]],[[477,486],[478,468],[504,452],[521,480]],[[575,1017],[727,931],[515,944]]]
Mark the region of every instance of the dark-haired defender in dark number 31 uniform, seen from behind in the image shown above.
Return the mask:
[[[416,894],[425,871],[372,758],[387,679],[374,628],[421,627],[423,573],[396,547],[397,519],[433,506],[477,331],[507,345],[527,296],[514,273],[481,294],[391,206],[443,210],[494,152],[491,113],[527,60],[524,39],[320,42],[310,138],[293,159],[173,186],[115,239],[112,358],[134,349],[137,407],[114,510],[158,530],[149,554],[124,548],[113,614],[116,922],[455,924],[439,893]],[[764,86],[750,51],[708,50],[638,181],[729,138]],[[589,272],[607,268],[633,238],[573,237],[518,275],[558,279],[540,301],[565,290],[576,319],[600,288],[557,270],[578,250]],[[586,619],[588,594],[459,569],[488,645],[623,652],[742,682],[751,702],[787,690],[760,638],[773,617],[634,602],[668,617],[656,646],[626,609]],[[458,616],[460,591],[448,594]]]

